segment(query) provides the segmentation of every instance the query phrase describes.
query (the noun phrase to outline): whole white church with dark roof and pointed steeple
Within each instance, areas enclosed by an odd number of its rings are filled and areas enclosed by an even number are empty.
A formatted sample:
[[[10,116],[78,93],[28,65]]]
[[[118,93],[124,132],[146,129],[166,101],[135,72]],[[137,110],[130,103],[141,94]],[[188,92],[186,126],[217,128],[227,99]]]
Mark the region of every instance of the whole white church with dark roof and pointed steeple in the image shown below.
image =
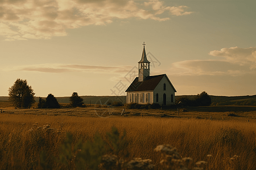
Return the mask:
[[[126,103],[175,104],[175,92],[166,74],[150,76],[150,62],[147,60],[145,44],[139,63],[139,76],[136,77],[125,92]]]

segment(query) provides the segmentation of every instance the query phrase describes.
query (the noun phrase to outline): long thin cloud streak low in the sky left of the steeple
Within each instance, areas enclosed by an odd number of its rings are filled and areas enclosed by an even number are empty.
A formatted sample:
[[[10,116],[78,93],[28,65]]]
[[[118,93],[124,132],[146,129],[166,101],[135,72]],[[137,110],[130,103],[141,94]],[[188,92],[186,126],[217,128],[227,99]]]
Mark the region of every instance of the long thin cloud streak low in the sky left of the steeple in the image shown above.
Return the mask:
[[[18,66],[11,70],[15,71],[36,71],[42,73],[65,73],[74,71],[84,71],[90,73],[109,73],[109,74],[125,74],[132,69],[131,66],[88,66],[88,65],[65,65],[65,64],[40,64]],[[10,69],[8,69],[10,71]]]

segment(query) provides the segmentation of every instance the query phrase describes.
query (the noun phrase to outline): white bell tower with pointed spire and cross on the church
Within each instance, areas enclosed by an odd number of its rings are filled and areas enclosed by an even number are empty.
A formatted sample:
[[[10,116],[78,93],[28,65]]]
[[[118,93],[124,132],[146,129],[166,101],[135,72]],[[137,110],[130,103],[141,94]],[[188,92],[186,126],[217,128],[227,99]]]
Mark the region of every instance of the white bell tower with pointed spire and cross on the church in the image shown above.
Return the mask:
[[[143,82],[147,76],[150,76],[150,62],[147,60],[145,42],[143,42],[143,52],[141,61],[139,61],[139,82]]]

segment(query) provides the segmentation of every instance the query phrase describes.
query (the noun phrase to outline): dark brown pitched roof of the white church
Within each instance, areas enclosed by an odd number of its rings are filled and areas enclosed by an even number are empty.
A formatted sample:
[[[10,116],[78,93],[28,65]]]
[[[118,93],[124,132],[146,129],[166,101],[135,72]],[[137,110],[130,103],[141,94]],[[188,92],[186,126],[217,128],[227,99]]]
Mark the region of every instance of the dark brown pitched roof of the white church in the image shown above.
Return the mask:
[[[153,91],[164,76],[166,76],[166,78],[168,79],[166,74],[160,74],[160,75],[147,76],[146,79],[143,80],[143,82],[139,82],[138,81],[139,78],[137,77],[133,80],[133,83],[130,84],[130,86],[127,88],[127,90],[125,92]],[[170,82],[172,88],[174,88],[171,81],[169,79],[168,79],[168,81]],[[174,88],[174,91],[176,92],[175,88]]]

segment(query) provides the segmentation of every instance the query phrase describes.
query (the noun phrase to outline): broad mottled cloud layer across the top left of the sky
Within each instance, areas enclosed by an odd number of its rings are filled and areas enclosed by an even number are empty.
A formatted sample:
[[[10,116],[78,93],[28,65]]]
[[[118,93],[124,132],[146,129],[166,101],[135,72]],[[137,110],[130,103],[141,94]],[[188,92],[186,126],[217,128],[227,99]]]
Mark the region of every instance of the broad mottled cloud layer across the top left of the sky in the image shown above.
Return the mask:
[[[164,6],[162,1],[20,0],[0,1],[0,35],[6,40],[51,39],[66,36],[67,29],[106,25],[114,19],[152,19],[158,15],[189,15],[187,6]],[[17,39],[14,36],[19,36]],[[7,37],[8,36],[8,37]]]

